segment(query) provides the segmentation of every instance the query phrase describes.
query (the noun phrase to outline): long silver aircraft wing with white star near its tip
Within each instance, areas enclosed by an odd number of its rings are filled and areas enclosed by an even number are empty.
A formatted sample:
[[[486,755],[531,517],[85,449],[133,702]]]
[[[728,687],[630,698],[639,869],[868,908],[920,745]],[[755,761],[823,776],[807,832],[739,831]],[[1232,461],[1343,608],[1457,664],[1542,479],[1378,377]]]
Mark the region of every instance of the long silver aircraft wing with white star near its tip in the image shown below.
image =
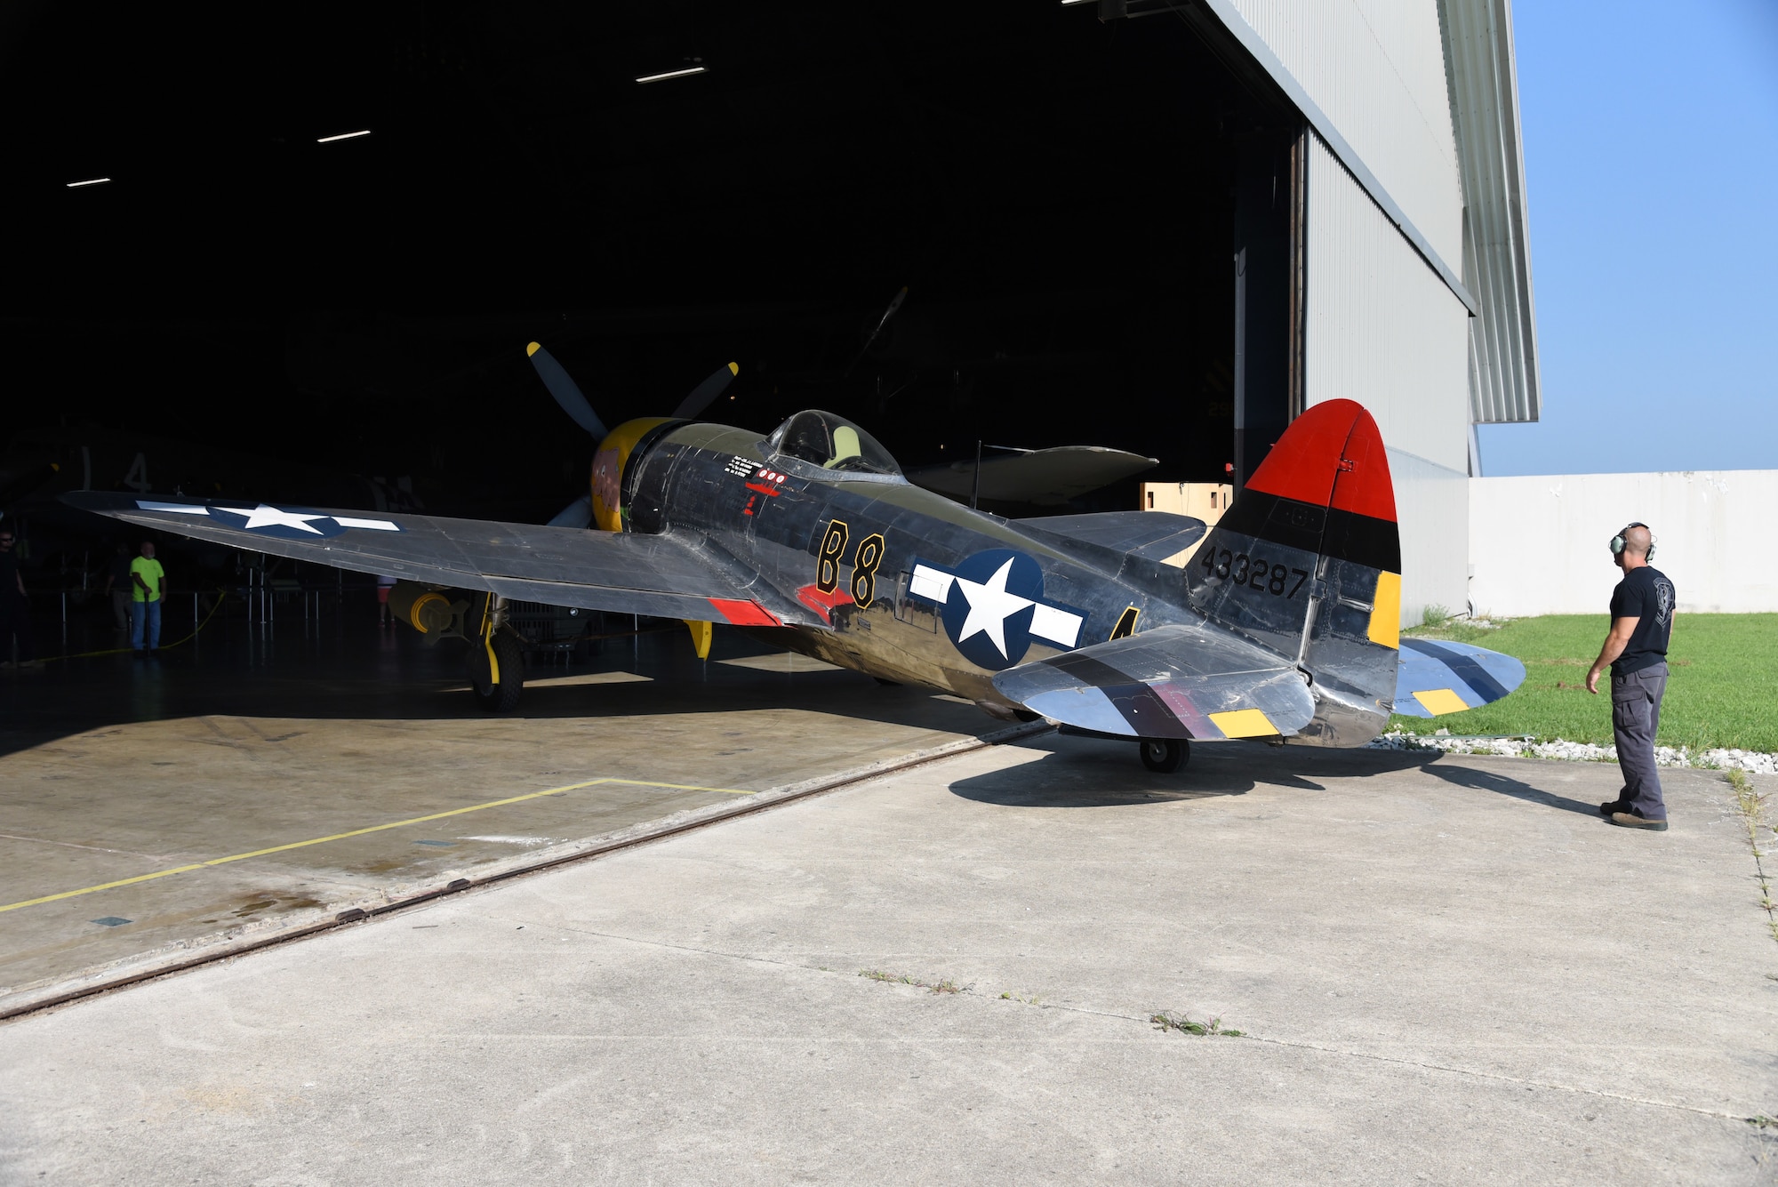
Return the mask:
[[[73,492],[62,501],[142,528],[354,572],[617,613],[827,625],[704,537],[484,519]]]

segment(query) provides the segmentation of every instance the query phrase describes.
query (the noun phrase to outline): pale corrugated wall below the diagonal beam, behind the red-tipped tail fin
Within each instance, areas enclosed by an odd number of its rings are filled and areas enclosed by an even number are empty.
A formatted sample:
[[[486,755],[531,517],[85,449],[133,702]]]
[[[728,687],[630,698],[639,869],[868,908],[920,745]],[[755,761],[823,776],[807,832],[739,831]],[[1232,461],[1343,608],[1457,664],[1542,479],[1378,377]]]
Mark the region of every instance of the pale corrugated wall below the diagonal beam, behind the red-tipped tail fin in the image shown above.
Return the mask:
[[[1307,403],[1357,400],[1389,446],[1403,620],[1469,599],[1469,311],[1309,135]]]

